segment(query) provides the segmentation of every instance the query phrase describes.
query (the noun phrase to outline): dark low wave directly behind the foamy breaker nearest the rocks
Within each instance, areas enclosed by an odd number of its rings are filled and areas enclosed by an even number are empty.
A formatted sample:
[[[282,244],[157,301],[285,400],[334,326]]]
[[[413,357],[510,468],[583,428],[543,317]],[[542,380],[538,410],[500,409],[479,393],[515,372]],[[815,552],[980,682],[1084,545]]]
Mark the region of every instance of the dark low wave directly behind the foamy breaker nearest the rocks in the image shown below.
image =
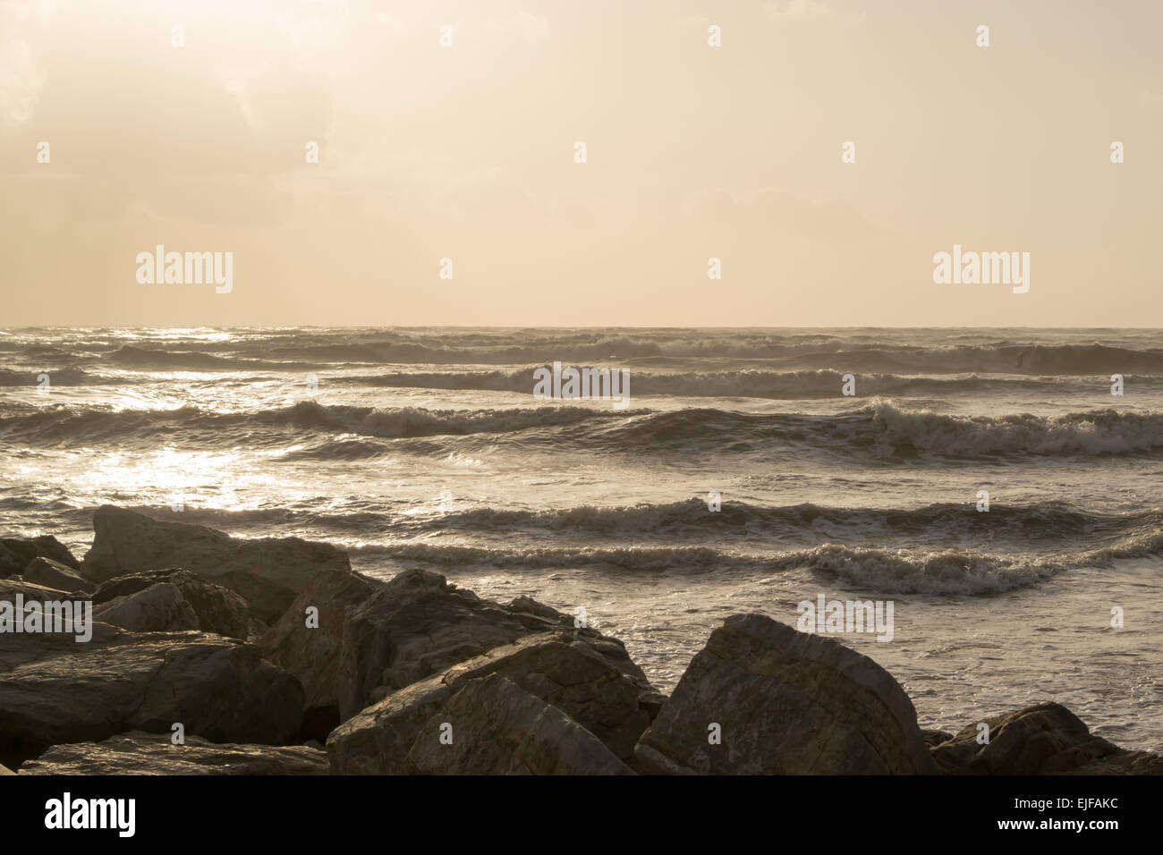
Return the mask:
[[[473,507],[440,511],[414,501],[354,500],[324,508],[313,506],[216,508],[187,505],[176,512],[162,505],[128,510],[157,519],[193,522],[224,529],[265,527],[280,534],[304,534],[324,540],[335,533],[356,532],[423,537],[465,535],[477,539],[513,535],[530,539],[565,536],[575,542],[612,537],[657,540],[698,546],[708,539],[741,546],[821,546],[829,542],[944,548],[969,542],[1019,551],[1042,544],[1043,553],[1064,548],[1122,548],[1163,532],[1163,508],[1133,513],[1085,511],[1062,501],[1007,506],[994,503],[978,513],[973,503],[941,503],[916,508],[828,507],[813,504],[765,507],[742,501],[723,503],[711,512],[702,498],[632,506],[582,505],[554,510]],[[421,513],[418,513],[421,511]],[[427,511],[427,512],[426,512]],[[86,522],[92,508],[70,511]],[[70,519],[70,521],[74,521]]]

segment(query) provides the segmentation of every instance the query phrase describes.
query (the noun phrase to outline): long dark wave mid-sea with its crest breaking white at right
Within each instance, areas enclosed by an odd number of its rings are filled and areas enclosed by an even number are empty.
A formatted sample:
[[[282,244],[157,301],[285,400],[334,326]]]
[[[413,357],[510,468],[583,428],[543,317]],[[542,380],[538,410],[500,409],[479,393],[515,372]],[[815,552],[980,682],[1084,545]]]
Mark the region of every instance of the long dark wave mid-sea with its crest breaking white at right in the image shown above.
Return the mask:
[[[290,448],[317,459],[359,459],[384,449],[352,444],[338,435],[412,439],[525,433],[522,443],[551,443],[570,451],[626,454],[800,454],[822,450],[848,458],[900,462],[923,458],[1151,455],[1163,449],[1163,413],[1093,409],[1065,415],[947,415],[876,401],[840,414],[744,413],[716,408],[676,411],[538,406],[513,409],[374,408],[300,401],[257,412],[121,409],[70,406],[6,407],[0,435],[70,442],[156,440],[187,432],[191,441],[231,436],[264,448]],[[485,436],[487,435],[487,436]],[[336,444],[338,442],[340,444]],[[321,444],[320,444],[321,443]],[[573,443],[563,446],[562,443]]]

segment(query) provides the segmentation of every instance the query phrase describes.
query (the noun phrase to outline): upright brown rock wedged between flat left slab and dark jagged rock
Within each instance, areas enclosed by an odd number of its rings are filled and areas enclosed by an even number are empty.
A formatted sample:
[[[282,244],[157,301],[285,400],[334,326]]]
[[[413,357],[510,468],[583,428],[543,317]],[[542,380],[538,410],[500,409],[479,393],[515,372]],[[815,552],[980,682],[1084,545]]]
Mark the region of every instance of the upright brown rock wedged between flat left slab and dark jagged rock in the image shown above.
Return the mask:
[[[305,733],[326,740],[340,724],[340,657],[347,611],[366,603],[383,586],[383,582],[359,573],[323,573],[256,642],[263,658],[285,668],[302,683],[307,694]],[[307,626],[311,606],[319,610],[314,628]]]

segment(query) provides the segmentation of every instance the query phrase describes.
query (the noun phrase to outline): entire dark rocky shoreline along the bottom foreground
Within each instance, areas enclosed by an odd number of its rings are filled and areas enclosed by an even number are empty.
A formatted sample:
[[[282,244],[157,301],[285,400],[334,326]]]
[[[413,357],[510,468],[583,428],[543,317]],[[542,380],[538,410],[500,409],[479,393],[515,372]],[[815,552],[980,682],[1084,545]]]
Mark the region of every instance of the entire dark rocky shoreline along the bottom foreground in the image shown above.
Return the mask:
[[[922,731],[872,660],[759,614],[668,697],[529,598],[112,506],[93,528],[83,561],[0,540],[0,603],[92,608],[87,641],[0,632],[0,774],[1163,774],[1058,704]]]

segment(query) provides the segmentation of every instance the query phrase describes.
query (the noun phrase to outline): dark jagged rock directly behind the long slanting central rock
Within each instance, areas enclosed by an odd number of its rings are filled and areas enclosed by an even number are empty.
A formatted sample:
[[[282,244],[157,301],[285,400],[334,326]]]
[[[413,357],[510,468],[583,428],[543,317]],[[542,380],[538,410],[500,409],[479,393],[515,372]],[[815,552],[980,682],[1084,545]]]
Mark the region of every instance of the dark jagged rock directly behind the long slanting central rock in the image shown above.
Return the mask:
[[[529,600],[533,603],[533,600]],[[605,656],[642,692],[643,708],[661,706],[658,694],[622,642],[573,621],[548,606],[516,610],[457,589],[438,573],[407,570],[347,613],[338,675],[341,720],[379,698],[457,662],[536,633],[568,628]]]

